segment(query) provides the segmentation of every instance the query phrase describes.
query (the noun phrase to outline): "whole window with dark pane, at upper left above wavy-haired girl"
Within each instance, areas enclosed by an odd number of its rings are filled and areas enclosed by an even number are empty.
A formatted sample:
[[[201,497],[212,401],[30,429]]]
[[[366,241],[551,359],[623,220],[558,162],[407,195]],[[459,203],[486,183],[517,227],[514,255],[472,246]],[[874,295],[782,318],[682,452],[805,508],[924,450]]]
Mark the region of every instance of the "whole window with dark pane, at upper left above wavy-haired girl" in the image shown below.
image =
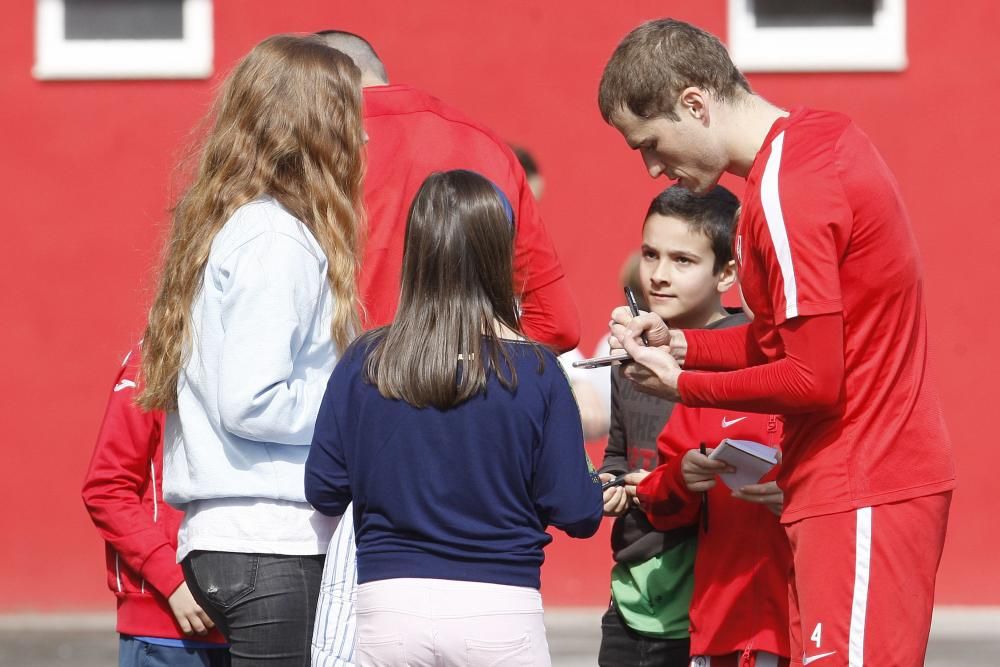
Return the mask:
[[[39,79],[212,73],[212,0],[36,0]]]

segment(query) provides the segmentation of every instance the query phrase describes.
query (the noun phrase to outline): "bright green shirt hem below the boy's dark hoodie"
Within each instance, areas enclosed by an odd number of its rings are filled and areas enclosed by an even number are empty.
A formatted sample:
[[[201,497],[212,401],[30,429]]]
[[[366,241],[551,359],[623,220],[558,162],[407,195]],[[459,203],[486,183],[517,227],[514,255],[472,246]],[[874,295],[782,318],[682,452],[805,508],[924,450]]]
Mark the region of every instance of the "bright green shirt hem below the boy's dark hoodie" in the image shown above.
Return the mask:
[[[649,560],[614,566],[611,597],[628,627],[660,639],[688,637],[697,546],[691,538]]]

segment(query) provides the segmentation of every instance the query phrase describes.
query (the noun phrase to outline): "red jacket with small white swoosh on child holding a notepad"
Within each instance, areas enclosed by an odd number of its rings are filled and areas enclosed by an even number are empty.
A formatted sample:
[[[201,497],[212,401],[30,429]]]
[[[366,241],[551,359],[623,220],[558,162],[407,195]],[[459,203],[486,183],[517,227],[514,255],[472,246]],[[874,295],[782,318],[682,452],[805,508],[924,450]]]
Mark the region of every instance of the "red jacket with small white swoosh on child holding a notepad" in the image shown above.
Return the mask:
[[[776,416],[712,408],[674,407],[657,440],[660,465],[637,489],[659,530],[700,520],[700,494],[687,489],[681,460],[704,442],[723,438],[777,446]],[[777,476],[772,470],[762,481]],[[789,655],[788,577],[792,556],[778,517],[763,505],[732,497],[722,480],[708,493],[708,532],[699,531],[691,598],[691,654],[768,651]]]

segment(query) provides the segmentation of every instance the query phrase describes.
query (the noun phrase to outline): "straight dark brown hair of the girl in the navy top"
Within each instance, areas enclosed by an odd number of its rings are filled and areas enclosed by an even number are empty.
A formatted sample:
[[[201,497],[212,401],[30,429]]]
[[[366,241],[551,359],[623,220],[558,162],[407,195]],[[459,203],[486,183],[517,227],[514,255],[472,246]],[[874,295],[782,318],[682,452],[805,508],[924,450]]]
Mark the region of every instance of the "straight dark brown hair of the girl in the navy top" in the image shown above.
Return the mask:
[[[500,196],[479,174],[424,181],[406,222],[396,317],[360,342],[369,345],[365,376],[379,393],[444,409],[485,389],[490,371],[517,386],[498,341],[500,326],[521,332],[513,237]]]

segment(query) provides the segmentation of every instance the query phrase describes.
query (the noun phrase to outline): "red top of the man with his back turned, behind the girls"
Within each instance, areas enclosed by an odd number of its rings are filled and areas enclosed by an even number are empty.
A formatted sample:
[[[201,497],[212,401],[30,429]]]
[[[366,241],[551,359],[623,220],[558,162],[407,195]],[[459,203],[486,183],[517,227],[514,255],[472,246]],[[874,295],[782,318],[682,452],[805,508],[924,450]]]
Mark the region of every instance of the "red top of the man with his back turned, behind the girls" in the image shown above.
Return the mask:
[[[576,306],[510,148],[479,123],[409,86],[365,88],[364,104],[368,243],[359,289],[366,326],[388,324],[396,313],[406,217],[424,179],[435,171],[469,169],[496,183],[514,207],[515,290],[522,294],[525,332],[559,351],[576,347]]]

